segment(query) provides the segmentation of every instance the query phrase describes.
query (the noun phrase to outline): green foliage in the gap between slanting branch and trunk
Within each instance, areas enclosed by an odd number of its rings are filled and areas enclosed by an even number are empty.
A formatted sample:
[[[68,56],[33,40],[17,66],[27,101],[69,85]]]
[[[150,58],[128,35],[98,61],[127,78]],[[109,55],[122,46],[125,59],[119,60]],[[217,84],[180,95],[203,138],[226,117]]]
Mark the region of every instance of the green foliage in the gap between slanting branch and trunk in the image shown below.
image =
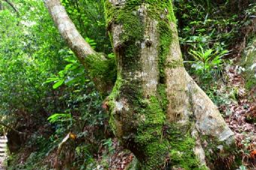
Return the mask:
[[[106,34],[102,0],[62,0],[81,35],[97,52],[111,53],[111,43]],[[91,42],[93,40],[93,42]],[[97,46],[96,46],[97,44]]]

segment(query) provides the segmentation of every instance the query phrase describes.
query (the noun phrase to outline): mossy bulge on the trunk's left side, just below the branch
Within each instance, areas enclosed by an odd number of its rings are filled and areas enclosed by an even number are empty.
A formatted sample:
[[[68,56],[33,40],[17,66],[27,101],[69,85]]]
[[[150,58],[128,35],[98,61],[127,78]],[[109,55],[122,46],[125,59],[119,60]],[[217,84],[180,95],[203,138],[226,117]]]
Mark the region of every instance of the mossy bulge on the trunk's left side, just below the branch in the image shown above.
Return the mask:
[[[142,97],[142,91],[138,83],[127,81],[122,78],[120,73],[117,74],[117,81],[113,91],[108,97],[108,105],[110,112],[110,124],[117,137],[122,137],[125,140],[133,134],[133,130],[137,127],[137,114],[140,105],[139,99]],[[128,110],[117,111],[117,103],[126,105]]]

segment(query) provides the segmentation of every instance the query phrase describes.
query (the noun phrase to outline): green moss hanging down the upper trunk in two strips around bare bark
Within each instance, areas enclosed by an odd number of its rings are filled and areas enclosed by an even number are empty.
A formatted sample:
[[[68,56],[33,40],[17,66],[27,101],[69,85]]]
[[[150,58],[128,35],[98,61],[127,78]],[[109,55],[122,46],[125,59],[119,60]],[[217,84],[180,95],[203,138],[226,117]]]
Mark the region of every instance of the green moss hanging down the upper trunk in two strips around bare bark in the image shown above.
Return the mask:
[[[142,19],[138,15],[139,5],[147,4],[147,13],[151,18],[157,20],[158,32],[160,34],[160,46],[159,46],[159,69],[160,77],[165,77],[164,64],[166,63],[166,57],[169,54],[169,46],[172,43],[172,29],[170,28],[170,22],[175,22],[175,15],[172,10],[172,1],[169,0],[130,0],[126,1],[123,7],[114,7],[111,2],[105,1],[105,17],[108,26],[111,24],[123,25],[123,33],[121,34],[121,43],[123,46],[123,57],[127,65],[134,65],[138,67],[139,62],[138,54],[140,50],[139,42],[143,40],[145,25]],[[157,5],[156,5],[157,4]],[[120,58],[122,60],[122,58]],[[123,62],[124,63],[124,62]]]

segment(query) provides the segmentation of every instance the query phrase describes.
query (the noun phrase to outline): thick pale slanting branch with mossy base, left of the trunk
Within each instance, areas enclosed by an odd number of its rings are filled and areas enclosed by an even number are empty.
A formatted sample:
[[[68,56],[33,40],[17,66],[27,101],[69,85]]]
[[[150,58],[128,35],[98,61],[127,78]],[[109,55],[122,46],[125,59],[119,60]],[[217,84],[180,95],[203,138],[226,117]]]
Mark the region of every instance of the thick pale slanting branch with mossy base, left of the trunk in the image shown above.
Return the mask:
[[[88,73],[90,73],[90,78],[96,88],[102,94],[108,94],[114,85],[116,76],[115,67],[113,67],[114,59],[107,59],[104,55],[93,50],[78,32],[75,24],[66,13],[65,7],[62,6],[59,0],[44,0],[44,4],[59,29],[59,33],[68,43],[69,48],[72,49],[78,60],[84,64]]]

